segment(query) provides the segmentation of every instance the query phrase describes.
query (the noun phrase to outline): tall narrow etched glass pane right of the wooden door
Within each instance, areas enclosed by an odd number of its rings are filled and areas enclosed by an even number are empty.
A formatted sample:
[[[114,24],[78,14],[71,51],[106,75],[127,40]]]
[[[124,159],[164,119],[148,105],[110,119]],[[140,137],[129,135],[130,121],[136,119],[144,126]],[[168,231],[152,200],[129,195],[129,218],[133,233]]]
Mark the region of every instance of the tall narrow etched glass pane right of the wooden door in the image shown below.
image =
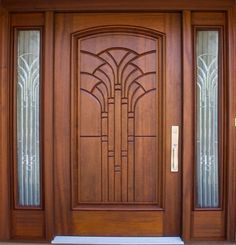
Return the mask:
[[[219,207],[218,60],[219,32],[198,31],[197,207]]]

